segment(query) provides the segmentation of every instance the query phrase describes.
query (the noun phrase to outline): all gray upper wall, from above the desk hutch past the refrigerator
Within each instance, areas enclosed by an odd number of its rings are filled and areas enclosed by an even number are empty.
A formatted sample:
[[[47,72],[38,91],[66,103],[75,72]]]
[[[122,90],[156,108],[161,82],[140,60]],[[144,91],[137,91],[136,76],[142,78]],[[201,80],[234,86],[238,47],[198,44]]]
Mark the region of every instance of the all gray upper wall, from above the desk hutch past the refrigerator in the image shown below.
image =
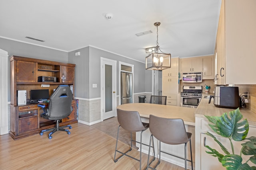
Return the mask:
[[[119,95],[119,61],[134,64],[134,93],[152,91],[152,71],[145,70],[145,64],[94,47],[85,47],[72,52],[59,51],[0,38],[0,49],[12,55],[76,64],[75,96],[78,98],[100,98],[100,57],[117,61],[117,95]],[[80,56],[75,52],[80,51]],[[10,101],[10,62],[8,63],[8,101]],[[144,80],[144,81],[142,81]],[[97,84],[98,88],[92,88]]]

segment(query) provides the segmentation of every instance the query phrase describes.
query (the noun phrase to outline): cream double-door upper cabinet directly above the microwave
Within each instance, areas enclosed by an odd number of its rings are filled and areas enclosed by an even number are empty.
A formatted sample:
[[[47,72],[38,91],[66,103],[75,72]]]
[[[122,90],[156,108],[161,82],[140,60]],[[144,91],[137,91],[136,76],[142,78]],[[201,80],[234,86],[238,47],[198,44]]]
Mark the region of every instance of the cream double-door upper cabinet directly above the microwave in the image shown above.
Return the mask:
[[[201,57],[182,59],[181,68],[182,72],[202,72],[203,60]]]

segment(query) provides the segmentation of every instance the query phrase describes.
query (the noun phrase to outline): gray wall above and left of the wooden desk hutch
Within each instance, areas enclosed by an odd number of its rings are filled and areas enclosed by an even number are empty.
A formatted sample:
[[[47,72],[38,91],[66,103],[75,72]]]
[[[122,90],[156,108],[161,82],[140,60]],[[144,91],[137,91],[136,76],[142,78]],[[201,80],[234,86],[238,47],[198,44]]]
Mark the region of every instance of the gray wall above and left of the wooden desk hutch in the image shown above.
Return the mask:
[[[18,41],[0,38],[0,49],[12,55],[68,63],[68,53]],[[8,101],[10,101],[10,62],[8,62]]]

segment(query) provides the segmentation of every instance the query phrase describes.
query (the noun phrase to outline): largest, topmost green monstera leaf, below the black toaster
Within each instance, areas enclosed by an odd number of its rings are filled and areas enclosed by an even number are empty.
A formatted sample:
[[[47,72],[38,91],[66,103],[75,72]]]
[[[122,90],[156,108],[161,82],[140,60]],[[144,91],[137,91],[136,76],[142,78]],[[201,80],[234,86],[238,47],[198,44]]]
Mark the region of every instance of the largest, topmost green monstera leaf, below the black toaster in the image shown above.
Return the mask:
[[[213,125],[209,123],[212,130],[222,137],[242,141],[248,134],[249,123],[247,119],[241,121],[243,115],[240,113],[239,107],[229,113],[223,113],[220,117],[207,115],[205,117],[210,123],[213,123]]]

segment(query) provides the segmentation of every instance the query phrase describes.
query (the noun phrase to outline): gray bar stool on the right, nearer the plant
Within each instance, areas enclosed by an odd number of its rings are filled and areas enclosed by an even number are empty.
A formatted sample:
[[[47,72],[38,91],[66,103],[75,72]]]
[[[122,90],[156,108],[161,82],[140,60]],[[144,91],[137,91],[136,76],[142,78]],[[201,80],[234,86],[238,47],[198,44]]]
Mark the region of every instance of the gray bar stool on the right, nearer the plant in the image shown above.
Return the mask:
[[[159,140],[159,160],[158,163],[154,168],[150,167],[151,162],[149,162],[149,156],[148,156],[148,166],[146,169],[155,169],[160,164],[161,159],[161,152],[174,156],[176,158],[180,158],[185,160],[185,170],[187,169],[187,161],[191,162],[192,170],[193,170],[193,161],[192,161],[192,150],[191,150],[191,136],[192,133],[186,132],[185,125],[182,119],[167,119],[162,117],[157,117],[154,115],[149,116],[149,130],[152,133],[150,136],[150,143],[151,141],[154,147],[154,141],[153,138]],[[180,156],[176,156],[171,153],[167,153],[161,150],[161,142],[169,144],[169,145],[179,145],[179,144],[185,144],[185,156],[184,158]],[[190,156],[191,159],[187,160],[186,155],[186,146],[187,143],[190,143]],[[148,153],[150,153],[150,149],[148,150]]]

